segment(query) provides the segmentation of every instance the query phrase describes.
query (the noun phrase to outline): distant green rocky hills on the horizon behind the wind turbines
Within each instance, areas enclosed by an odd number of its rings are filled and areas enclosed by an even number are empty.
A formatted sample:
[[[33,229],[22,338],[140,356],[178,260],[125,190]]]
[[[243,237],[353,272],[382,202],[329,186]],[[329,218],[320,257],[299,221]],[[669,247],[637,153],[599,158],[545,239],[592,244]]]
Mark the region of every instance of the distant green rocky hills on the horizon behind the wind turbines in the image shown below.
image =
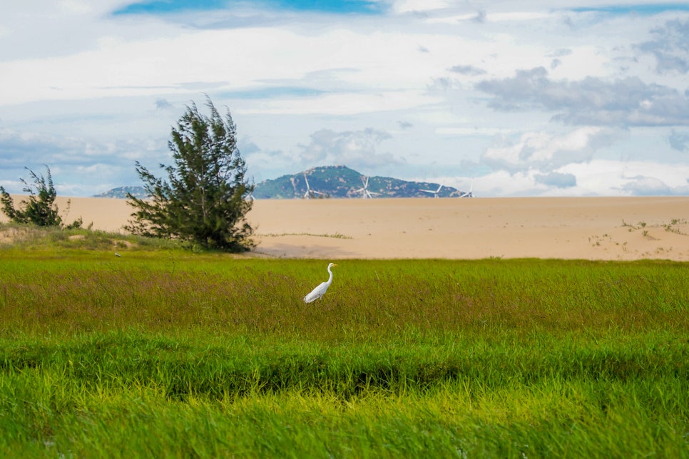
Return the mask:
[[[307,185],[308,182],[308,185]],[[148,197],[143,187],[118,187],[94,197],[126,199],[127,193]],[[456,197],[462,194],[453,187],[432,182],[408,182],[392,177],[367,177],[347,166],[321,166],[294,175],[282,175],[257,183],[255,199],[294,199],[305,197]]]

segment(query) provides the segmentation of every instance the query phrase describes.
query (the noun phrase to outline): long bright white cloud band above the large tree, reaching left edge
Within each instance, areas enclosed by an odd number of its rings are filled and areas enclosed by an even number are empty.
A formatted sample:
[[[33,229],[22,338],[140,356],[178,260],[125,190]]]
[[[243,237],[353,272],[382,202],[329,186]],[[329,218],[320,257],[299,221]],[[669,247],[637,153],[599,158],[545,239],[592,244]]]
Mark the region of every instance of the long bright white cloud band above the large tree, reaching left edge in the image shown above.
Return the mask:
[[[442,64],[424,53],[413,55],[417,41],[426,38],[341,29],[315,38],[265,28],[185,31],[175,38],[136,41],[106,36],[98,39],[98,49],[70,56],[1,62],[0,84],[30,91],[3,92],[0,104],[183,94],[189,93],[185,84],[190,82],[200,82],[201,88],[203,82],[212,82],[217,88],[220,81],[228,90],[246,91],[264,87],[269,76],[272,81],[301,81],[332,68],[352,69],[333,74],[350,91],[405,91],[423,88],[432,68],[442,70]],[[437,42],[432,36],[428,40]],[[399,59],[407,53],[415,65]]]

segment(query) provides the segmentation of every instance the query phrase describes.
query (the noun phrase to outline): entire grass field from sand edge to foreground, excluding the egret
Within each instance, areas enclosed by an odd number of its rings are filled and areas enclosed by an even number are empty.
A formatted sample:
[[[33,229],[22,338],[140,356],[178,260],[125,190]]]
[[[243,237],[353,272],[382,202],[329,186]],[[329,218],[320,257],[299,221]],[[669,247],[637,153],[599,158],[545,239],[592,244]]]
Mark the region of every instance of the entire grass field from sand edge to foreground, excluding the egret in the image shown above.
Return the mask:
[[[327,261],[0,246],[0,455],[689,458],[689,264]]]

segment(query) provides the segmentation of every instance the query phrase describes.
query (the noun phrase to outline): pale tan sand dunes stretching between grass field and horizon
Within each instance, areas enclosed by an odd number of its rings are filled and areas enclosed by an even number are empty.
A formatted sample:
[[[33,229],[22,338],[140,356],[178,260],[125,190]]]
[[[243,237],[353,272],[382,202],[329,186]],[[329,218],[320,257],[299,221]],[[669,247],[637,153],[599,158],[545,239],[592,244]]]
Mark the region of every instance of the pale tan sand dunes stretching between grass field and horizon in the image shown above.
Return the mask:
[[[113,232],[132,212],[118,199],[56,203],[66,222]],[[689,197],[256,200],[247,220],[263,257],[689,260]]]

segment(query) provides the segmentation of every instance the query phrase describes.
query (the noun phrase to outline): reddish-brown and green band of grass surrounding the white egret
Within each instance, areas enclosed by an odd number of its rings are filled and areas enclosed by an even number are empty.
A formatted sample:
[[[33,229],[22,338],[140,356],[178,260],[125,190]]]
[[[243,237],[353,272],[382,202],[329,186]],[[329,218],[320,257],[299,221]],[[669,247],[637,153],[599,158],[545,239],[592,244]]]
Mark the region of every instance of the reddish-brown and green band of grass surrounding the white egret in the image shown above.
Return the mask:
[[[675,262],[351,260],[307,306],[302,296],[327,277],[323,262],[153,253],[10,254],[0,266],[0,331],[200,327],[379,341],[410,329],[596,334],[688,325],[688,267]]]

